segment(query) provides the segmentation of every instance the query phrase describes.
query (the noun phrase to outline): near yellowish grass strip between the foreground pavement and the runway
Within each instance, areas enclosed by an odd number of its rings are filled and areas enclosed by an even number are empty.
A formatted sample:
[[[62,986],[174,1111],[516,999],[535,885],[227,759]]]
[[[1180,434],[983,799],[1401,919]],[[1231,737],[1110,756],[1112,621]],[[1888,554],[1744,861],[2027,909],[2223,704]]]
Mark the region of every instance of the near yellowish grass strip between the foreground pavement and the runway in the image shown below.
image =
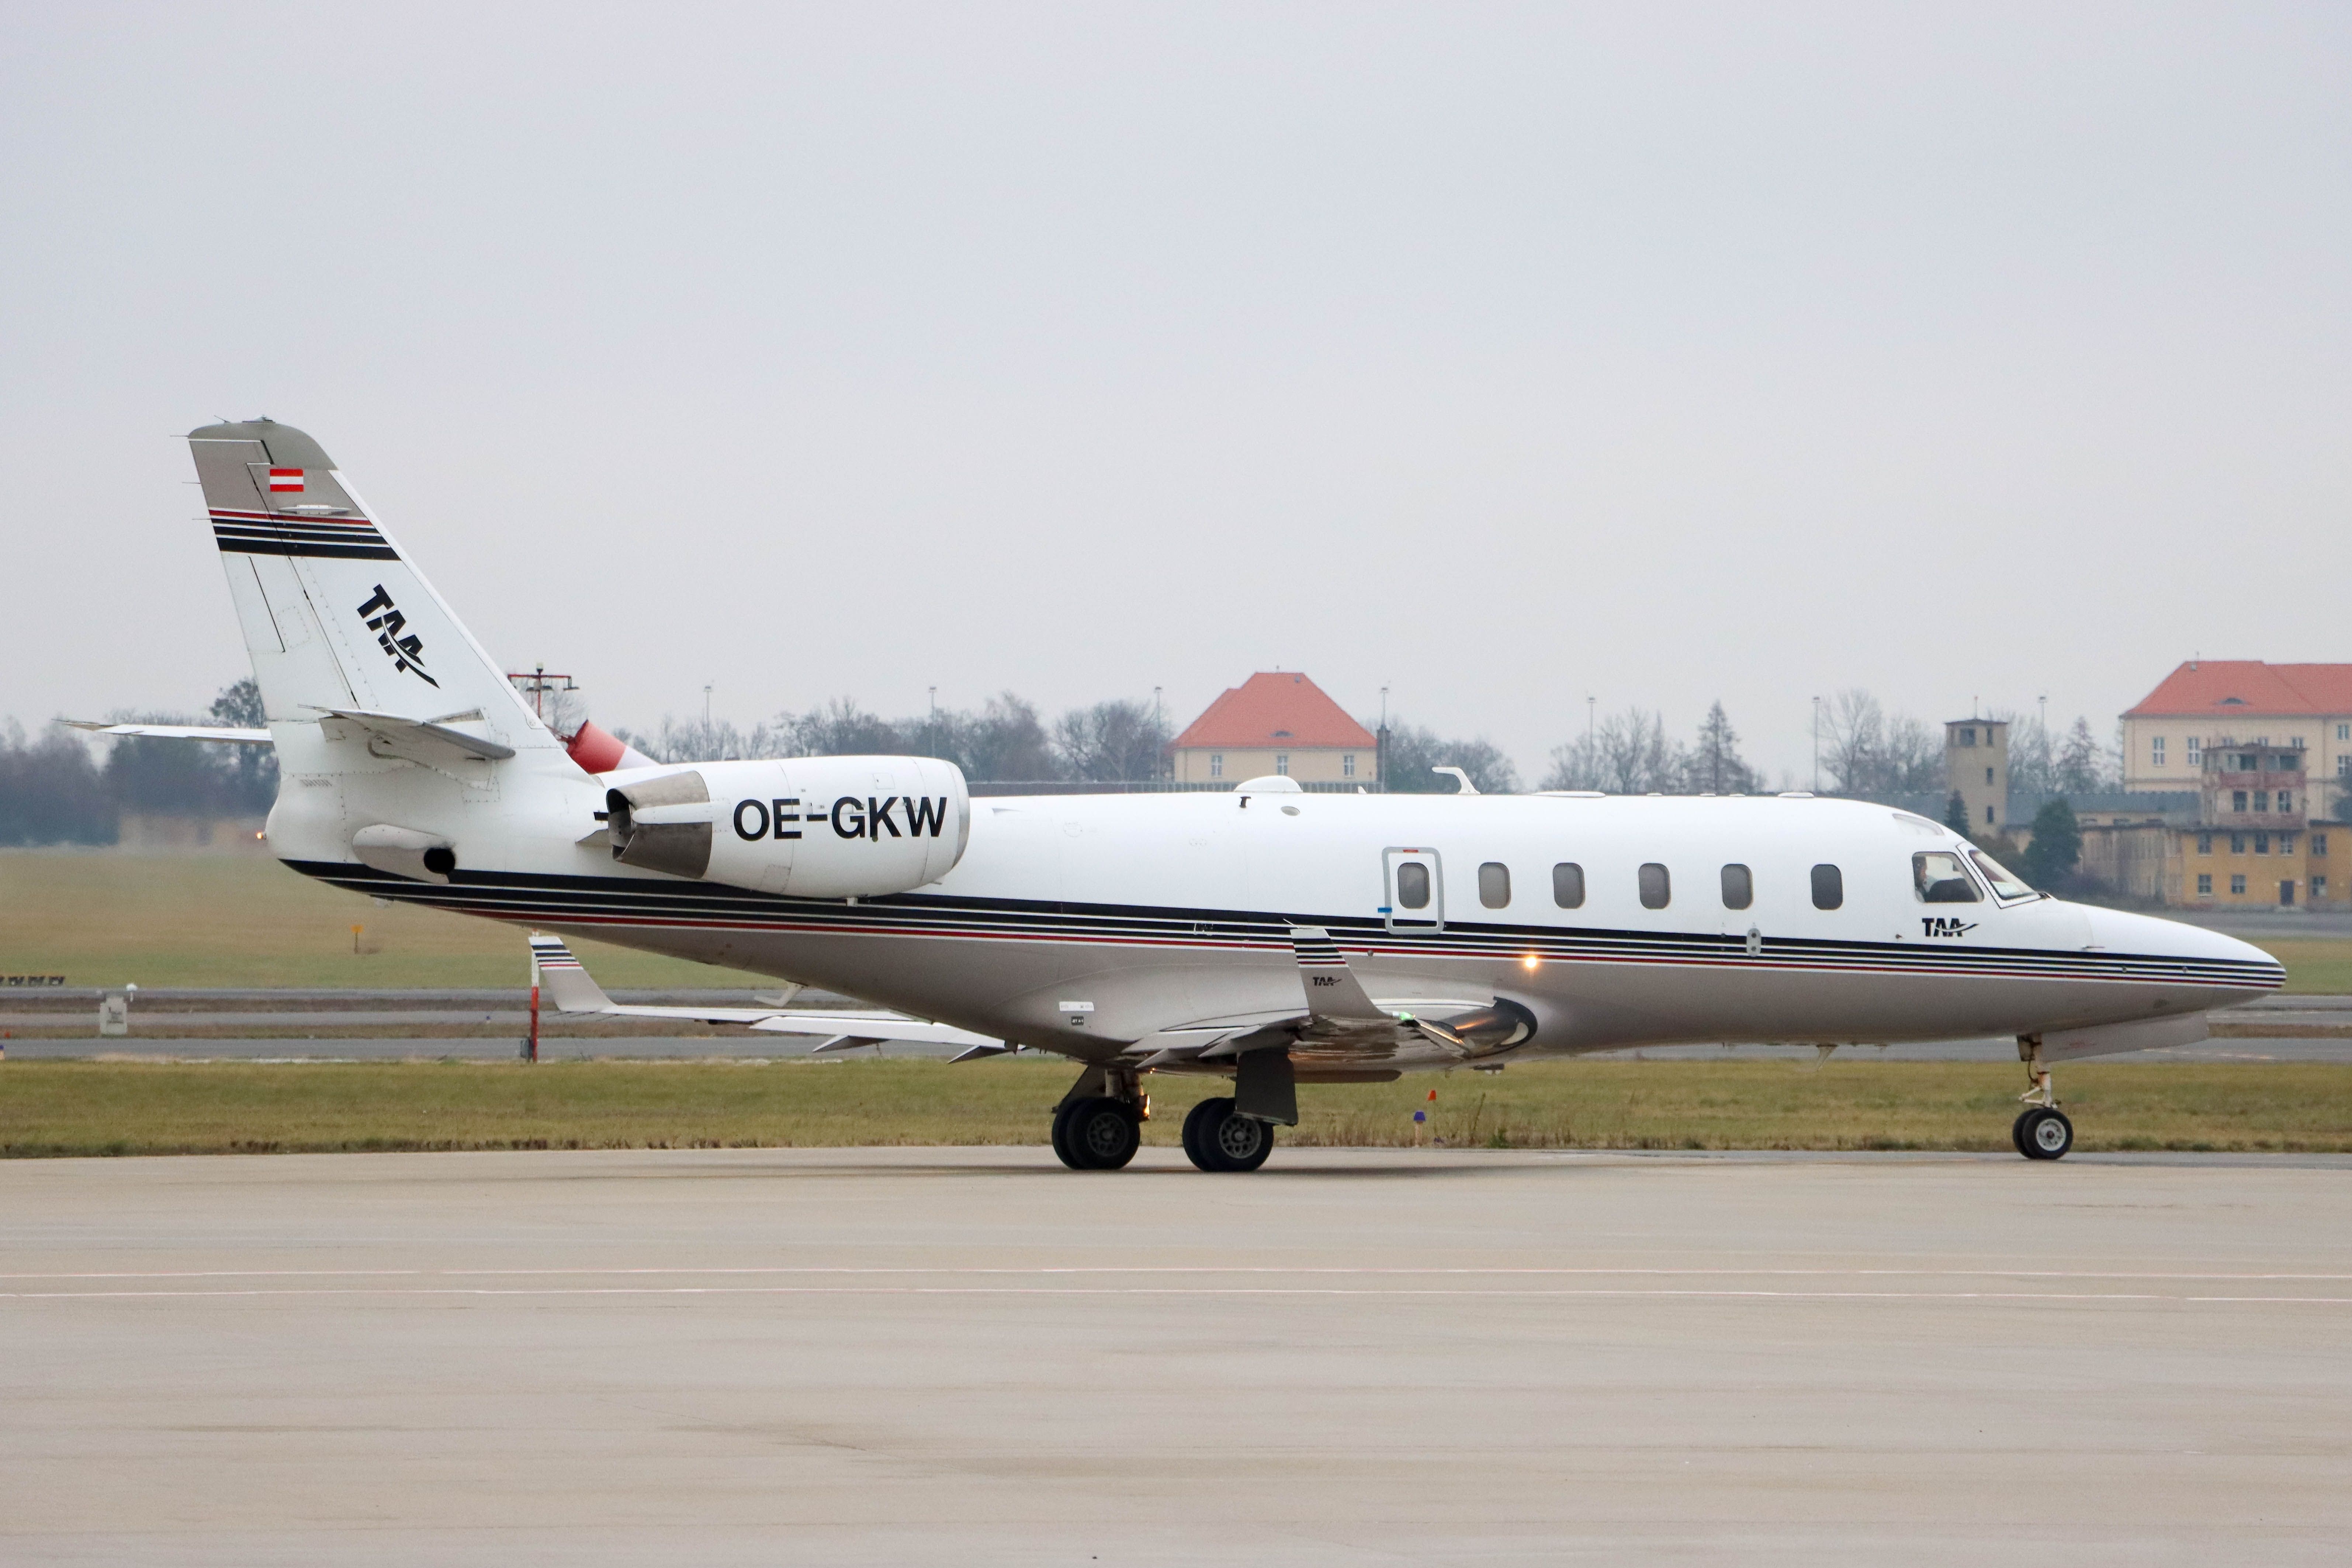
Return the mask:
[[[0,1154],[1044,1143],[1065,1063],[0,1065]],[[2352,1067],[2065,1065],[2082,1150],[2352,1150]],[[1152,1077],[1174,1145],[1211,1079]],[[1287,1143],[2004,1150],[2023,1077],[1976,1063],[1526,1063],[1308,1086]],[[1432,1105],[1425,1095],[1437,1091]]]

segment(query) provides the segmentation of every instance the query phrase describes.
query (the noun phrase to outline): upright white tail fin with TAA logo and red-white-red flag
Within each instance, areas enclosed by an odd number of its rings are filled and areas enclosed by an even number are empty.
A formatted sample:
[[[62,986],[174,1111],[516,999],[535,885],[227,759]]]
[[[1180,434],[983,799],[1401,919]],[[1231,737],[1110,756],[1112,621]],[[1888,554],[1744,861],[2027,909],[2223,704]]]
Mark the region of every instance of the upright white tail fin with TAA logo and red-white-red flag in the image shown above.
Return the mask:
[[[315,440],[268,418],[188,433],[270,719],[480,719],[553,745]]]

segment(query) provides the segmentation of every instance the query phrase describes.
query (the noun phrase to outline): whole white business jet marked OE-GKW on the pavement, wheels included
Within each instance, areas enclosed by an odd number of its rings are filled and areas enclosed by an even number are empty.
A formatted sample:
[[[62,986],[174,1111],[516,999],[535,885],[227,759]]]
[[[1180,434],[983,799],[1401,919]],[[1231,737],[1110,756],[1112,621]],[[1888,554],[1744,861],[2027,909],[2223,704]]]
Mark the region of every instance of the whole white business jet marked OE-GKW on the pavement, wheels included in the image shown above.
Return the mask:
[[[2032,891],[1907,811],[1795,797],[983,797],[929,757],[659,766],[560,738],[327,454],[193,430],[278,748],[270,849],[379,898],[515,922],[560,1006],[1082,1065],[1054,1150],[1124,1166],[1152,1072],[1216,1074],[1204,1171],[1254,1171],[1296,1084],[1675,1041],[2016,1037],[2018,1152],[2074,1128],[2051,1063],[2206,1037],[2274,990],[2246,943]],[[1468,780],[1463,780],[1468,783]],[[619,1006],[560,936],[821,985],[889,1013]]]

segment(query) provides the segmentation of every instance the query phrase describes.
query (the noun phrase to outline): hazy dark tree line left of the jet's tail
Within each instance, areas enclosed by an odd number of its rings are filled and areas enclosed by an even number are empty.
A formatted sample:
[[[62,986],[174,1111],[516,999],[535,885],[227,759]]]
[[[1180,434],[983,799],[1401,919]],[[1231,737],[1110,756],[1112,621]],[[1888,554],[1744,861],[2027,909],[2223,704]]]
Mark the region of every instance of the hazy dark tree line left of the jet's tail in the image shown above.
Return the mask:
[[[200,719],[169,712],[115,719],[261,729],[261,693],[242,679]],[[82,731],[54,724],[35,736],[14,719],[0,729],[0,844],[113,844],[127,811],[263,816],[273,799],[278,757],[268,745],[136,738],[92,745]]]

